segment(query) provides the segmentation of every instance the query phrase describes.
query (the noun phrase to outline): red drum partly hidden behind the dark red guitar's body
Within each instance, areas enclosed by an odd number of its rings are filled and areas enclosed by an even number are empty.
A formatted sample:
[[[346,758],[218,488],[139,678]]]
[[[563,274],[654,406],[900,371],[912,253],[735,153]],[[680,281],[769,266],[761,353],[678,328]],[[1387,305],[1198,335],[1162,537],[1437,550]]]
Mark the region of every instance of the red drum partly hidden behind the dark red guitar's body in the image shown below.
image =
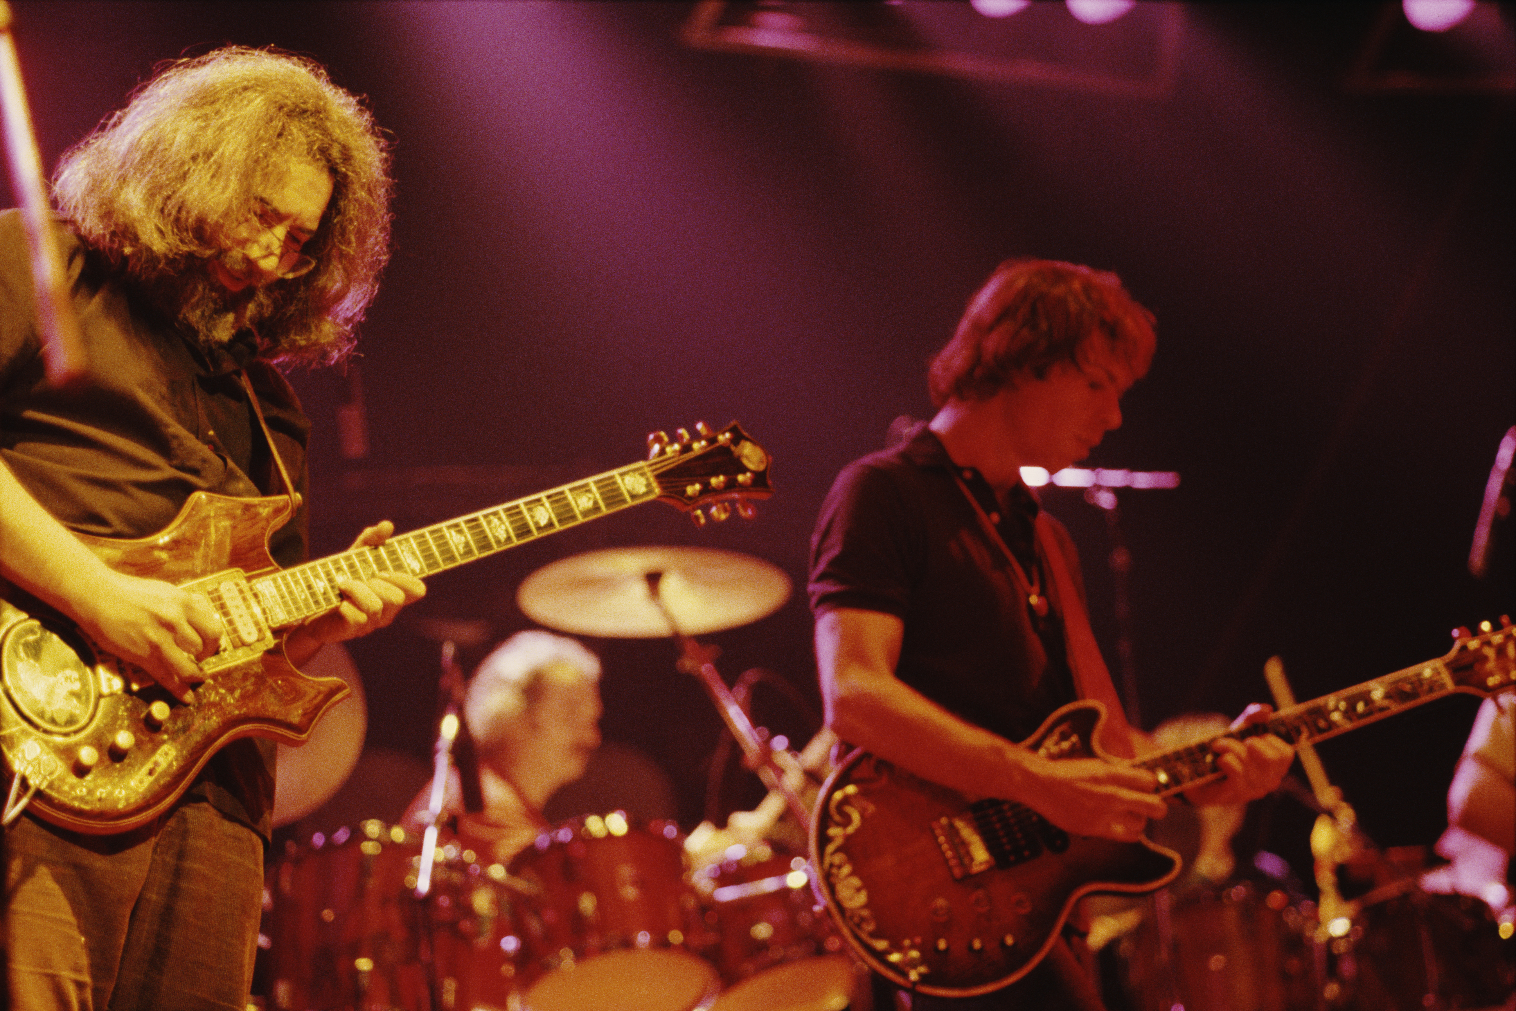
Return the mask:
[[[716,1011],[843,1011],[860,990],[854,959],[816,908],[805,856],[769,843],[732,846],[694,875],[728,987]]]

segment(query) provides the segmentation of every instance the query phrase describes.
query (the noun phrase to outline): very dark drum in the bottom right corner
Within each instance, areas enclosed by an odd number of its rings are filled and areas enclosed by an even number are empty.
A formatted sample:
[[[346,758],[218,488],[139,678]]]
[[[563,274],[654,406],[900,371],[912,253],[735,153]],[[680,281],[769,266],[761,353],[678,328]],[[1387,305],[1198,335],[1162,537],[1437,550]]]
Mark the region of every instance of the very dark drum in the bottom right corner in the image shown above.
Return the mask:
[[[1331,941],[1333,1008],[1496,1008],[1516,993],[1516,940],[1472,896],[1410,891],[1364,906]]]

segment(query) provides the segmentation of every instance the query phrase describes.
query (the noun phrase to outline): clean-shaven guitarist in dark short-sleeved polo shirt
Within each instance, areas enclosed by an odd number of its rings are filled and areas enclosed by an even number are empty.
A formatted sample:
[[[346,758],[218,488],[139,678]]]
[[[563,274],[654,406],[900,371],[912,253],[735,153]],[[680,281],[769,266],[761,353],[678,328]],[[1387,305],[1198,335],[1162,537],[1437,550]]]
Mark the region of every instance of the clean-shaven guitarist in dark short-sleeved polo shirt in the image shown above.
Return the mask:
[[[813,538],[810,596],[828,726],[931,784],[1025,805],[1051,823],[1040,831],[1052,850],[1070,835],[1132,843],[1166,805],[1152,772],[1093,756],[1054,761],[1055,750],[1017,743],[1058,706],[1095,699],[1108,712],[1098,741],[1107,753],[1149,750],[1123,718],[1088,631],[1073,544],[1041,512],[1020,468],[1069,467],[1120,426],[1122,394],[1148,371],[1154,346],[1152,315],[1114,274],[1055,261],[1001,264],[931,365],[935,417],[901,446],[846,467]],[[1254,706],[1239,723],[1267,715]],[[1214,749],[1225,776],[1190,790],[1193,803],[1261,797],[1293,758],[1269,734],[1217,740]],[[855,820],[838,819],[837,840],[873,809],[849,814]],[[944,852],[949,831],[957,826],[943,829]],[[817,840],[820,850],[826,838]],[[940,862],[937,847],[928,849]],[[964,849],[966,859],[972,853]],[[838,859],[819,867],[823,878],[838,876],[834,891],[852,922],[869,925],[869,890],[860,887],[869,881],[850,870]],[[881,878],[907,890],[913,884],[904,865]],[[975,897],[985,912],[987,893]],[[948,925],[978,916],[931,894],[913,893],[913,900],[944,925],[938,952],[949,947]],[[879,938],[879,950],[893,943]],[[1026,943],[1007,932],[973,937],[966,947],[1014,953]],[[926,961],[913,949],[932,941],[901,944],[875,967],[917,991],[914,1011],[1101,1008],[1088,962],[1064,937],[1049,937],[1049,947],[1023,959],[1008,987],[979,985],[967,996],[943,993],[951,987],[931,996],[938,976],[920,970],[907,979]],[[878,1003],[893,1006],[882,984]]]

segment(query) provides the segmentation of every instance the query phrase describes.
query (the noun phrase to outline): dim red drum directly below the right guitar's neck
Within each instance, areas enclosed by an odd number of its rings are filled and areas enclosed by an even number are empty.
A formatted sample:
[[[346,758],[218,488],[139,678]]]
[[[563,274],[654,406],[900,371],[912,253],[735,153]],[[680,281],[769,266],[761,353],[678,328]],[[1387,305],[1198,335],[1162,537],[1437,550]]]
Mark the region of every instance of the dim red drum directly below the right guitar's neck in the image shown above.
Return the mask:
[[[1263,882],[1160,891],[1117,947],[1132,1011],[1317,1011],[1313,926]]]

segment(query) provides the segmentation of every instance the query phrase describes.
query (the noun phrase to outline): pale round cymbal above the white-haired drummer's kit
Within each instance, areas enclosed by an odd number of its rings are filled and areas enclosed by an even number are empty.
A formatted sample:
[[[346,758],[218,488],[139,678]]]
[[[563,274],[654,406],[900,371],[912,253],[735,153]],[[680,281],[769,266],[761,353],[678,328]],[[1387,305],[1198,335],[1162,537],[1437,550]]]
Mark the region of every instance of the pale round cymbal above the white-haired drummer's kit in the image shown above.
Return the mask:
[[[706,547],[612,547],[564,558],[528,576],[515,593],[522,611],[575,635],[662,638],[669,618],[685,635],[732,629],[767,617],[790,596],[790,577],[758,558]]]

